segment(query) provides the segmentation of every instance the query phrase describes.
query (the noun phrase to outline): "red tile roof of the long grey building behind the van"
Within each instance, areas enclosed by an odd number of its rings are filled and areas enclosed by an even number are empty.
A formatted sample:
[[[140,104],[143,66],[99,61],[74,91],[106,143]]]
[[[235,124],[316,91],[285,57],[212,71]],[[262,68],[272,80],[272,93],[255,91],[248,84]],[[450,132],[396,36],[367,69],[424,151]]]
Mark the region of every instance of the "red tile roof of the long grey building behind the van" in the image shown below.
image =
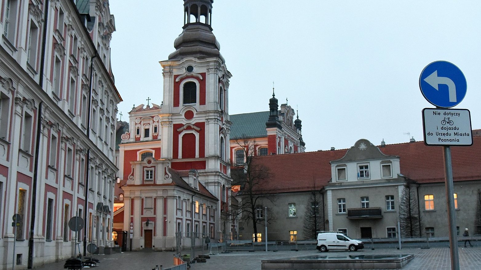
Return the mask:
[[[378,146],[379,147],[379,146]],[[400,157],[401,173],[420,184],[444,182],[443,147],[424,142],[386,145],[381,152]],[[339,160],[347,149],[259,156],[253,163],[269,170],[269,179],[255,187],[263,193],[319,190],[329,183],[329,161]],[[481,180],[481,136],[469,147],[451,147],[454,181]]]

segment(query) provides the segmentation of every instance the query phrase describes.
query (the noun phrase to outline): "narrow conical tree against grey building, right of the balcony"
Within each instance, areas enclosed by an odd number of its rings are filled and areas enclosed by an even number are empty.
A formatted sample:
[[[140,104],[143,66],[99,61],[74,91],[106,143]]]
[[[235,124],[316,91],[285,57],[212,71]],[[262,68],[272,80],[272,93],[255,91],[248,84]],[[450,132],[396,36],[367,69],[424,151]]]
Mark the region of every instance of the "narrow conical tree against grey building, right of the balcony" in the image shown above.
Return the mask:
[[[401,236],[418,237],[420,236],[418,199],[414,191],[411,191],[408,184],[403,188],[402,196],[399,201],[399,223]]]

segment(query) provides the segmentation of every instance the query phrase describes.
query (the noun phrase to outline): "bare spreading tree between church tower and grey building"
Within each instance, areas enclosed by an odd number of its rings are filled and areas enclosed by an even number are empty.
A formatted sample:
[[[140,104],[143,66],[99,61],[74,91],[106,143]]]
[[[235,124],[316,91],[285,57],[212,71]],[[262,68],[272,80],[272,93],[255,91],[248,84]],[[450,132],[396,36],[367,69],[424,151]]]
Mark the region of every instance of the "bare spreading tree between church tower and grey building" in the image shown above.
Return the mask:
[[[252,222],[254,241],[257,242],[257,224],[264,225],[264,207],[260,205],[263,200],[267,199],[272,202],[273,196],[269,195],[269,190],[261,189],[260,184],[265,182],[269,176],[269,172],[265,166],[255,164],[254,149],[255,140],[242,139],[237,140],[236,143],[242,147],[245,157],[245,163],[237,162],[237,157],[234,157],[230,176],[233,185],[240,185],[241,191],[238,196],[241,197],[237,213],[234,213],[234,218],[240,218],[242,222]],[[256,215],[261,207],[262,217]],[[273,217],[268,215],[267,222],[273,221]]]

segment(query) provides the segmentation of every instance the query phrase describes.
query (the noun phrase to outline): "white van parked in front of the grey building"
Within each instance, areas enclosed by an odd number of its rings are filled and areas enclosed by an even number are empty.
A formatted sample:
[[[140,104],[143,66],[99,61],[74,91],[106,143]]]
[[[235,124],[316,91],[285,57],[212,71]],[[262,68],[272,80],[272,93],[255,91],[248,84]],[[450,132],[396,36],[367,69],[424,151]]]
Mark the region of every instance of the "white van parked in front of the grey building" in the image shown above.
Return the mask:
[[[349,249],[356,251],[364,248],[362,241],[351,239],[342,233],[317,233],[317,250],[324,252],[329,249]]]

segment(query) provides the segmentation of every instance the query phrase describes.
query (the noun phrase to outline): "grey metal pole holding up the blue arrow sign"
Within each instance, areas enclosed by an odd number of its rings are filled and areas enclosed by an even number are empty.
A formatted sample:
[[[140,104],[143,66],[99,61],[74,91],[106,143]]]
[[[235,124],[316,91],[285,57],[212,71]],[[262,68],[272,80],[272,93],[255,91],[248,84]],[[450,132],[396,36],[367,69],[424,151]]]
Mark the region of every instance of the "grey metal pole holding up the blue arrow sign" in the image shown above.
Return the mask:
[[[457,234],[456,234],[456,213],[454,206],[454,184],[453,184],[453,167],[451,163],[451,148],[444,148],[444,169],[446,183],[446,203],[448,207],[448,224],[449,224],[449,245],[451,252],[451,270],[459,270],[459,254],[457,250]]]

